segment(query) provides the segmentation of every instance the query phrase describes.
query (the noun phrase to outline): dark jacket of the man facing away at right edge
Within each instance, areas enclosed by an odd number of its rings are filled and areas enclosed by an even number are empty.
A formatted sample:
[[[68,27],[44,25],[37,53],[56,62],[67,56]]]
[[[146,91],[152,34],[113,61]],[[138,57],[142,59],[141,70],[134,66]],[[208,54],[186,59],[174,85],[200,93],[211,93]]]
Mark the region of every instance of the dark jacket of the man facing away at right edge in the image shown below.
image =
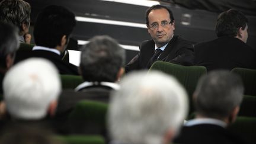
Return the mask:
[[[219,37],[195,45],[195,65],[214,69],[256,69],[256,51],[235,37]]]

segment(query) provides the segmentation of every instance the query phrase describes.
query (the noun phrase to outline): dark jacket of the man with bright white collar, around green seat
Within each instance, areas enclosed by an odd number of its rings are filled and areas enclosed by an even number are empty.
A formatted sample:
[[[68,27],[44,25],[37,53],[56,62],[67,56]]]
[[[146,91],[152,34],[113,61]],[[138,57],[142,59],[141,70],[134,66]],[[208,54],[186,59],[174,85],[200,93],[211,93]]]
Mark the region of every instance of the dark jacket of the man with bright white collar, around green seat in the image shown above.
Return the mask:
[[[73,89],[65,90],[59,97],[59,103],[56,110],[55,123],[60,134],[100,134],[107,137],[106,130],[101,129],[94,124],[81,123],[81,121],[69,121],[68,116],[72,112],[76,103],[81,100],[95,100],[108,103],[111,87],[103,85],[93,85],[74,91]],[[63,127],[64,126],[64,127]],[[85,129],[86,127],[86,129]],[[97,128],[95,128],[97,127]]]

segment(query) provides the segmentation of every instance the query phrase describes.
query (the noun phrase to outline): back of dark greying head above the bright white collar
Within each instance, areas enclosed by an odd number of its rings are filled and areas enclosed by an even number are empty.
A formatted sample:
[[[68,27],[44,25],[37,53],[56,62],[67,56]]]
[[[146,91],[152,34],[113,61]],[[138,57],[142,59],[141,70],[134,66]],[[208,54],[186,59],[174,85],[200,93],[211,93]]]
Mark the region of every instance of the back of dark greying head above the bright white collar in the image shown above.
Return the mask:
[[[109,36],[95,36],[81,49],[81,75],[85,81],[117,81],[125,51]]]

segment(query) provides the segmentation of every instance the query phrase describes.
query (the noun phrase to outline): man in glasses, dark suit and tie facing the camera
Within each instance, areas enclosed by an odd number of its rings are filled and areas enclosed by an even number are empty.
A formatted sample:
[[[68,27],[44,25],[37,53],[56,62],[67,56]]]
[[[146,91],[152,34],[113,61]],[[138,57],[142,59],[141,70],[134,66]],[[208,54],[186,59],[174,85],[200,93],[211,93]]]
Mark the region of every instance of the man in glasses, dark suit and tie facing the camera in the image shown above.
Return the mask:
[[[194,47],[189,41],[174,35],[172,11],[153,5],[146,11],[146,25],[152,40],[140,44],[140,52],[126,65],[126,72],[148,69],[155,60],[190,66],[194,64]]]

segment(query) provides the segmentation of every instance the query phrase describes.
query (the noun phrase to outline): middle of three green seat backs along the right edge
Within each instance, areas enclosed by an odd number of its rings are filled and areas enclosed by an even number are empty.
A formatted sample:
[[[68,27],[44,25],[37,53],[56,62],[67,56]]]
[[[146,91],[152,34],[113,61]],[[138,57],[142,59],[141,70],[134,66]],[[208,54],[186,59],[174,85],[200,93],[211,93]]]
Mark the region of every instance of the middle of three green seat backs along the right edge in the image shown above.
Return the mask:
[[[256,117],[256,97],[244,95],[238,116]]]

